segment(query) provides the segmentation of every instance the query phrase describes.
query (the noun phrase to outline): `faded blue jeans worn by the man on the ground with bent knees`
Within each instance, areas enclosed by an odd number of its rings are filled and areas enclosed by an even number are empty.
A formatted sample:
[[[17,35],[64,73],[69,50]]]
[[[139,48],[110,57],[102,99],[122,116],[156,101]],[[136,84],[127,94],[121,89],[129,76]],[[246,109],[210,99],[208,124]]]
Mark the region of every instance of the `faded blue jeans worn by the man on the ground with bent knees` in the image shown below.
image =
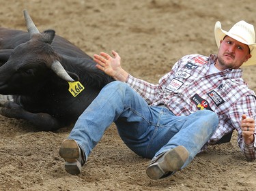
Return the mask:
[[[74,139],[88,158],[104,131],[115,122],[124,143],[144,158],[183,145],[193,160],[218,126],[218,116],[209,110],[175,116],[167,107],[149,106],[123,82],[107,84],[79,117],[68,139]]]

